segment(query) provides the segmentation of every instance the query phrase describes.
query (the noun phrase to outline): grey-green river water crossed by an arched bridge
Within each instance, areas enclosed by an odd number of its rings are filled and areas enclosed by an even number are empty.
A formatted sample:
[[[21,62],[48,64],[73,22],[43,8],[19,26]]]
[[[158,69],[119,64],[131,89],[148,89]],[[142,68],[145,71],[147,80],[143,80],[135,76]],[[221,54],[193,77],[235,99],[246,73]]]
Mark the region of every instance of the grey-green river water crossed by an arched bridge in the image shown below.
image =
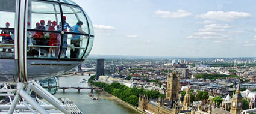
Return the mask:
[[[69,77],[59,77],[60,87],[69,87],[69,86],[80,86],[87,87],[87,83],[80,83],[83,78],[89,79],[89,76],[69,76]],[[90,94],[90,89],[82,89],[80,93],[76,89],[66,89],[63,92],[62,89],[59,89],[57,94],[54,96],[57,98],[66,97],[70,98],[75,102],[76,106],[83,113],[104,113],[104,114],[130,114],[137,113],[135,110],[129,108],[128,106],[123,105],[118,100],[113,100],[113,97],[110,95],[105,95],[102,92],[94,92],[93,94],[98,100],[92,100],[88,95]]]

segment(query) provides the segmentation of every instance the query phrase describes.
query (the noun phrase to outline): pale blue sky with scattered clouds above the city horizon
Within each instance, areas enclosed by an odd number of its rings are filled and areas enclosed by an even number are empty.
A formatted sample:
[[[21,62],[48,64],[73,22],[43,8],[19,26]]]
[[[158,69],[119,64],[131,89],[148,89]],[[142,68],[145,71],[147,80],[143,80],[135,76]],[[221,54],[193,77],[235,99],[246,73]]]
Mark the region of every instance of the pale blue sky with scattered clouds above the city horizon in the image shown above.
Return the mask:
[[[93,55],[256,56],[253,0],[74,1],[93,22]]]

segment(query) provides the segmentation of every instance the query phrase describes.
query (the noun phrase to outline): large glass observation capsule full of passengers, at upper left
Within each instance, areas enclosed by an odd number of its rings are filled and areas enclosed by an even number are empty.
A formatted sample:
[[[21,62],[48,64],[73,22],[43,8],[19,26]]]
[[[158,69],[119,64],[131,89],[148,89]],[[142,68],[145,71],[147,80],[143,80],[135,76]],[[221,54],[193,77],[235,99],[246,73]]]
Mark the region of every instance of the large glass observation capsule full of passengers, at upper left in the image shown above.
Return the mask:
[[[0,82],[58,76],[81,64],[93,25],[71,0],[0,1]]]

